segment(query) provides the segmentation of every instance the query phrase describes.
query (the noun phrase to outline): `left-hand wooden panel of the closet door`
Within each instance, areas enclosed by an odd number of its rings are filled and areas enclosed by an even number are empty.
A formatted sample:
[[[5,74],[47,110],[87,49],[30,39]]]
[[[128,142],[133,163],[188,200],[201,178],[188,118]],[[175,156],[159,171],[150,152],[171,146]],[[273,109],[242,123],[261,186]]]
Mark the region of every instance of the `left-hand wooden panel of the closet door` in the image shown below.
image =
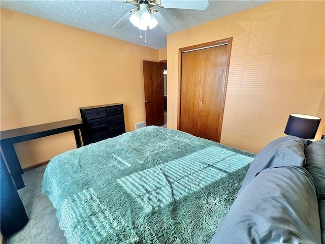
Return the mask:
[[[181,131],[194,136],[198,131],[202,50],[182,54]]]

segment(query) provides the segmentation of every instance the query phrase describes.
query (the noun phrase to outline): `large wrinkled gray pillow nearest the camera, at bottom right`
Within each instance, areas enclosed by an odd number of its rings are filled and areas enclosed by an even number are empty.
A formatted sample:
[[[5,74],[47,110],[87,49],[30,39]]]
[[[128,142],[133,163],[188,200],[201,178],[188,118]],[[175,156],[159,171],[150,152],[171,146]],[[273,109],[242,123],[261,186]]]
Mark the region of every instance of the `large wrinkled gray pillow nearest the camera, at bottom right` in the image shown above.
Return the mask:
[[[239,194],[210,244],[321,243],[315,185],[306,169],[269,168]]]

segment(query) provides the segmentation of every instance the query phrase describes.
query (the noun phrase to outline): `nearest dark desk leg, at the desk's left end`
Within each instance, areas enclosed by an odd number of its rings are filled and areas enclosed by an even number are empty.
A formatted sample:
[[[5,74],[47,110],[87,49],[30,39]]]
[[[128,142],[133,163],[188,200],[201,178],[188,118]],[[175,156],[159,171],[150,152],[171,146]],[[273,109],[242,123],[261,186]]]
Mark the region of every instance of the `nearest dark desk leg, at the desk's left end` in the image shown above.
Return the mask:
[[[16,155],[14,145],[12,143],[1,143],[1,149],[4,153],[5,159],[7,161],[11,176],[14,179],[16,189],[21,189],[25,187],[24,181],[22,180],[21,174],[22,169]]]

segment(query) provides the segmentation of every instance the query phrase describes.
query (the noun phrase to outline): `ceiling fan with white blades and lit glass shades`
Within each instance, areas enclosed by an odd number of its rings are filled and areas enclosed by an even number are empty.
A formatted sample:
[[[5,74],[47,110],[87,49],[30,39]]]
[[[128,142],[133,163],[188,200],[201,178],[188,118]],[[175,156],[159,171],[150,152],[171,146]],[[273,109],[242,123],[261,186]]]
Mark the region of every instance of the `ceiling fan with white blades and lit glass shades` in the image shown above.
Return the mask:
[[[122,28],[130,21],[143,31],[159,25],[165,32],[172,31],[173,26],[152,7],[205,10],[209,6],[208,0],[126,0],[124,3],[131,3],[137,8],[128,11],[113,28]]]

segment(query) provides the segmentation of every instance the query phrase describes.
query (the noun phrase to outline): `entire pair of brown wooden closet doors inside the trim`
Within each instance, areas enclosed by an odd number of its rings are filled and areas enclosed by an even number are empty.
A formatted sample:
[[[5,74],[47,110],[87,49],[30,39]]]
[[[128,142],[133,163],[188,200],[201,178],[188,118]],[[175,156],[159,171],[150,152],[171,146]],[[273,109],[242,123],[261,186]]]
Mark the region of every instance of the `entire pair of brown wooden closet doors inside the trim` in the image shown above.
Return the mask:
[[[182,53],[180,130],[220,141],[228,45]]]

